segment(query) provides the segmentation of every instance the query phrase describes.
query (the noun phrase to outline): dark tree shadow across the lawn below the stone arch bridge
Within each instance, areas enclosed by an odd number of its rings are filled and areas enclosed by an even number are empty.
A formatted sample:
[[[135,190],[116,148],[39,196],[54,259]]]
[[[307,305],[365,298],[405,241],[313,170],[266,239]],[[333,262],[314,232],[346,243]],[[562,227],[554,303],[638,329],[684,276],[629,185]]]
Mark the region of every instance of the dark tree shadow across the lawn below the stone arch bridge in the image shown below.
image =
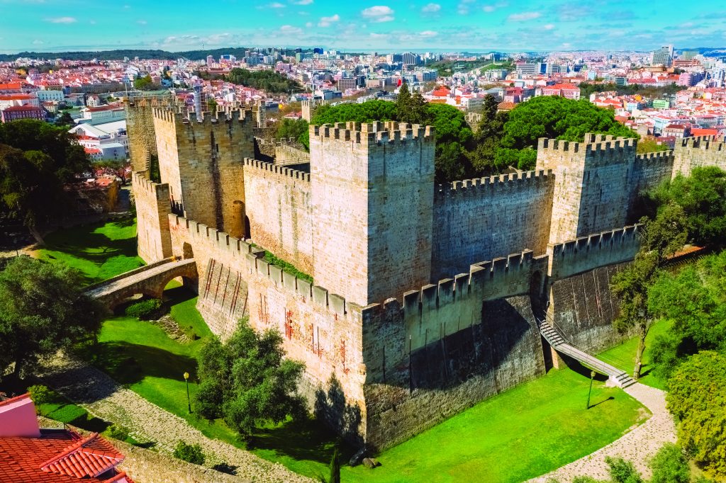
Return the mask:
[[[179,381],[188,372],[197,379],[197,360],[187,355],[141,344],[102,342],[93,350],[89,362],[119,384],[134,384],[146,376]]]

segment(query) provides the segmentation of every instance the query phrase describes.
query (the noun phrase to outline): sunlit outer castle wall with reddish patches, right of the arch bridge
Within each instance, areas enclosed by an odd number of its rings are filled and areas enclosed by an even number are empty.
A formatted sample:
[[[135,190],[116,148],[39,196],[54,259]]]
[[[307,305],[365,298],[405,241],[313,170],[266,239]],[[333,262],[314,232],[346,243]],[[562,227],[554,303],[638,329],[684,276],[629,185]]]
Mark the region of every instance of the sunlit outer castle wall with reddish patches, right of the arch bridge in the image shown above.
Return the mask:
[[[347,432],[365,434],[362,309],[343,297],[269,265],[248,241],[169,215],[174,255],[197,260],[200,310],[214,334],[227,337],[248,316],[256,330],[276,329],[287,357],[306,364],[303,392],[311,408],[339,426],[342,398],[354,415]],[[354,436],[357,435],[357,436]]]

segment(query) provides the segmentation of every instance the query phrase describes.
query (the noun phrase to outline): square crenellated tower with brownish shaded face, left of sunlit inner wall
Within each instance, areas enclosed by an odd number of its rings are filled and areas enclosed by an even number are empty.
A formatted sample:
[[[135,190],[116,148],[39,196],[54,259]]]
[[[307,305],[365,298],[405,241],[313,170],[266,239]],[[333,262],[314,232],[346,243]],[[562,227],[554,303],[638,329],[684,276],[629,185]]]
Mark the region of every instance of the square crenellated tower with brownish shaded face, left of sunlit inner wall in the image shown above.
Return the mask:
[[[244,158],[254,156],[249,110],[193,113],[154,108],[159,171],[187,217],[245,236]]]

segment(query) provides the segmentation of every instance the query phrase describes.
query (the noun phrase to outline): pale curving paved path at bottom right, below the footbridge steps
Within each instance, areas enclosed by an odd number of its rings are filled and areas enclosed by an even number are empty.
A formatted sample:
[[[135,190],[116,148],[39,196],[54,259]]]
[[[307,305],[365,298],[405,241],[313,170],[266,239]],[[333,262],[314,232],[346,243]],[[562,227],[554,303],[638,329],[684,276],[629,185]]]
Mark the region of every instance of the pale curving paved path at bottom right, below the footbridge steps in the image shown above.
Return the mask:
[[[632,461],[635,467],[646,478],[650,477],[648,461],[666,442],[676,442],[676,432],[673,418],[666,409],[666,393],[661,389],[634,384],[623,389],[635,397],[653,416],[645,423],[637,426],[631,432],[624,434],[611,444],[601,447],[595,453],[584,456],[551,473],[531,479],[531,482],[544,483],[549,479],[560,482],[571,482],[575,476],[592,476],[595,479],[608,479],[608,465],[605,456],[621,456]]]

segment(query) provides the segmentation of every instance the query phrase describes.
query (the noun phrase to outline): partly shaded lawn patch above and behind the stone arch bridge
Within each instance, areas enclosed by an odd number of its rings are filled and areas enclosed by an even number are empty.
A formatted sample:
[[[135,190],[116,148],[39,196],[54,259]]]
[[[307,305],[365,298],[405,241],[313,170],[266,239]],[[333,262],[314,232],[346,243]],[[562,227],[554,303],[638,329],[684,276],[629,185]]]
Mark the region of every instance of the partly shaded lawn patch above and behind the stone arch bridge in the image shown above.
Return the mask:
[[[77,268],[86,284],[144,265],[136,255],[136,219],[93,223],[54,231],[38,249],[38,258]]]

